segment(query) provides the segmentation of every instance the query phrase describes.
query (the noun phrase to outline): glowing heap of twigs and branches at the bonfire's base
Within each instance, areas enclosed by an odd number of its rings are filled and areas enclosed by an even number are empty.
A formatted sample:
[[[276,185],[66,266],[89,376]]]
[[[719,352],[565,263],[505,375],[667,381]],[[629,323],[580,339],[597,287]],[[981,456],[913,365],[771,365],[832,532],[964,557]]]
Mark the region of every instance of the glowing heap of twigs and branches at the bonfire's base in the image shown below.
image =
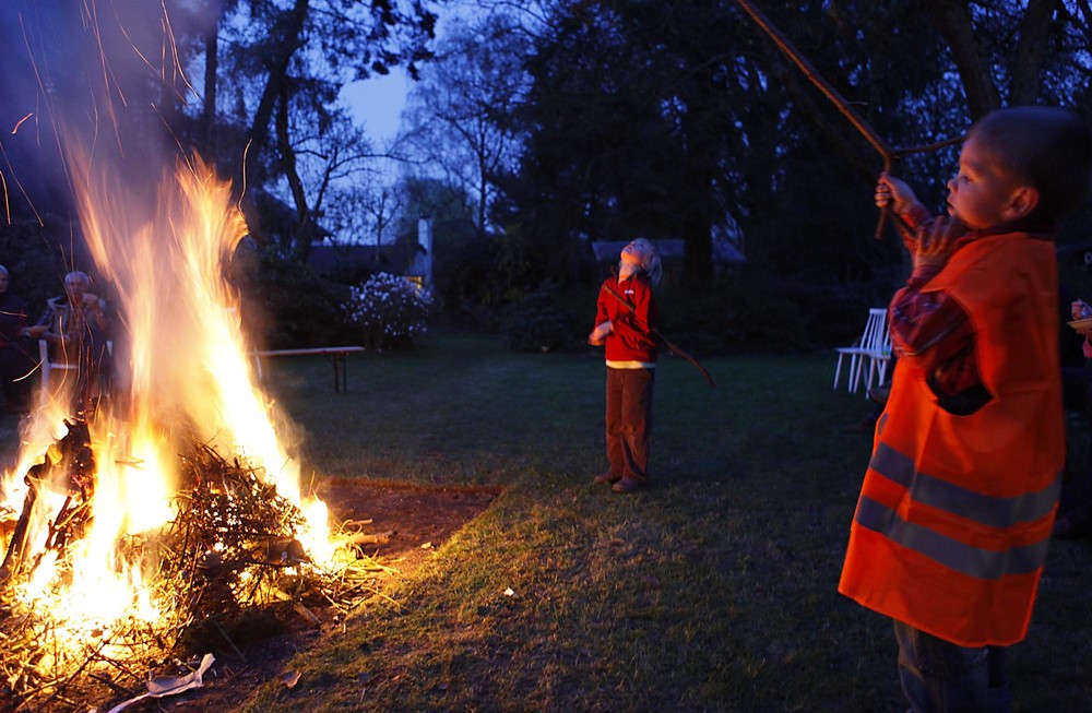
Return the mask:
[[[356,552],[319,568],[296,538],[299,509],[276,492],[261,468],[192,442],[180,461],[183,487],[176,494],[174,520],[115,545],[119,562],[142,565],[155,617],[76,621],[62,607],[44,604],[48,598],[23,598],[23,585],[43,559],[38,550],[56,555],[60,565],[51,587],[71,583],[66,556],[92,524],[94,452],[86,449],[85,424],[69,429],[36,466],[20,513],[25,523],[31,510],[43,507],[45,484],[52,489],[66,484],[67,500],[43,535],[45,546],[26,539],[25,524],[17,545],[9,539],[0,582],[0,713],[69,713],[111,697],[130,698],[151,673],[185,672],[178,658],[210,649],[241,658],[237,640],[256,620],[264,619],[265,629],[296,618],[317,626],[320,607],[341,613],[378,594],[376,577],[385,568]],[[81,595],[90,593],[75,593]]]

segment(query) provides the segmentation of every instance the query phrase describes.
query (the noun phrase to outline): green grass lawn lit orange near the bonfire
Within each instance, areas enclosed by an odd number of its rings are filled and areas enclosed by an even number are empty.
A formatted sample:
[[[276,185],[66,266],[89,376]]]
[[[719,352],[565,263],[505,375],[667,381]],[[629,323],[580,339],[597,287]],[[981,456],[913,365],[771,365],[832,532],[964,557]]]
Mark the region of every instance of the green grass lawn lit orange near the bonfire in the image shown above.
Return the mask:
[[[890,622],[836,593],[869,408],[834,356],[662,358],[652,487],[593,487],[600,353],[525,355],[440,334],[396,354],[266,365],[307,472],[500,485],[479,518],[342,633],[298,654],[254,712],[905,710]],[[1092,701],[1089,542],[1052,544],[1018,711]],[[507,596],[511,589],[515,596]]]

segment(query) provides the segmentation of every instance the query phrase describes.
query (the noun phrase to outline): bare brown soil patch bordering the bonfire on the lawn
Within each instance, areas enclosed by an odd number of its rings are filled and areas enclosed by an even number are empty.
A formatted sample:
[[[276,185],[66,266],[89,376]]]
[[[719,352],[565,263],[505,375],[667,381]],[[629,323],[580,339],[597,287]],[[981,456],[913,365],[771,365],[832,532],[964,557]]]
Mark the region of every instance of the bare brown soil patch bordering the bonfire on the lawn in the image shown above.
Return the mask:
[[[319,496],[339,522],[370,521],[359,530],[384,535],[382,542],[361,548],[378,565],[391,568],[390,572],[377,572],[376,587],[383,592],[400,578],[413,575],[436,547],[488,508],[500,490],[344,478],[324,483],[319,488]],[[229,712],[241,706],[258,686],[290,677],[286,665],[292,656],[320,645],[325,637],[341,631],[336,611],[314,614],[321,620],[318,627],[308,623],[302,616],[289,615],[286,619],[283,613],[259,613],[252,620],[236,622],[230,631],[230,646],[238,651],[217,654],[216,663],[204,676],[202,688],[159,700],[145,699],[126,711]],[[119,696],[114,702],[123,698],[127,697]],[[109,706],[99,710],[109,710]]]

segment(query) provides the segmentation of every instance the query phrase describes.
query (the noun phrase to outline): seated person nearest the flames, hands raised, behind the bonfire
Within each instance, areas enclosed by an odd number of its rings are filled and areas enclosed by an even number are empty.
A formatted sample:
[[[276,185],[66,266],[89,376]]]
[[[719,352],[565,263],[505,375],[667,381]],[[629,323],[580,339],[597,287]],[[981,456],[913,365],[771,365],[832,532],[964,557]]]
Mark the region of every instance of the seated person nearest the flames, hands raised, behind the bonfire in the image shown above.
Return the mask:
[[[107,348],[110,320],[106,302],[90,292],[91,277],[80,271],[64,276],[64,295],[47,300],[46,311],[31,332],[50,344],[51,358],[79,366],[78,411],[108,391],[114,361]]]

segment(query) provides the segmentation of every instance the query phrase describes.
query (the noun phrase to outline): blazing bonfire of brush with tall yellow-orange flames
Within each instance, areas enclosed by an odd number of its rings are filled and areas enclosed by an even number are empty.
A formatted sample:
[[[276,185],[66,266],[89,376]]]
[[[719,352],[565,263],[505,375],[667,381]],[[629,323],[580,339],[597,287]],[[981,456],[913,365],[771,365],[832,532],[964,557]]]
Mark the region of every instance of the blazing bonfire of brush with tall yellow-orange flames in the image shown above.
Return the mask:
[[[107,213],[123,189],[73,166],[129,357],[112,393],[48,394],[0,479],[0,713],[131,699],[232,651],[248,613],[354,606],[377,569],[302,496],[287,421],[252,385],[223,278],[244,234],[229,186],[192,159],[155,211]]]

